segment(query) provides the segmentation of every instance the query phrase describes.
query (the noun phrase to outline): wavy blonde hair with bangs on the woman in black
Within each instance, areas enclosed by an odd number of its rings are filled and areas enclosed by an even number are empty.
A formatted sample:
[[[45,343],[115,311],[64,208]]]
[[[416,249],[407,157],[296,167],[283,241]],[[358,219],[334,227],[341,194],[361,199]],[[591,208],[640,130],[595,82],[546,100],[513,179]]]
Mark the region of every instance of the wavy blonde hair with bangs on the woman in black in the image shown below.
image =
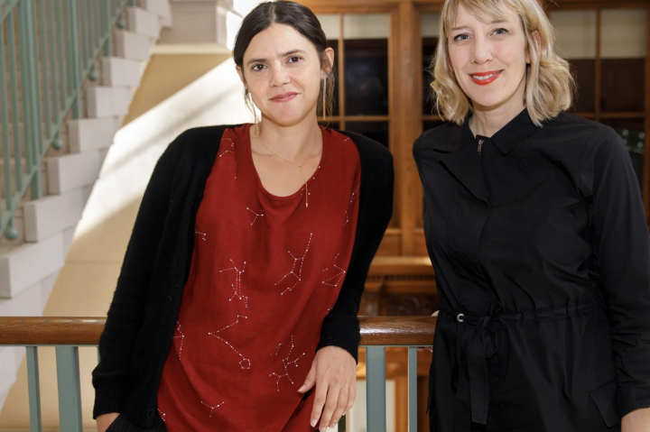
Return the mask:
[[[571,106],[575,81],[569,62],[558,56],[554,49],[554,30],[537,0],[447,0],[442,8],[440,41],[432,61],[432,89],[436,108],[450,122],[463,124],[472,110],[469,97],[460,88],[450,67],[449,32],[463,6],[469,14],[487,23],[506,19],[505,8],[513,11],[524,26],[526,50],[531,59],[527,68],[525,106],[534,124],[542,125]],[[534,32],[540,36],[540,50],[534,43]]]

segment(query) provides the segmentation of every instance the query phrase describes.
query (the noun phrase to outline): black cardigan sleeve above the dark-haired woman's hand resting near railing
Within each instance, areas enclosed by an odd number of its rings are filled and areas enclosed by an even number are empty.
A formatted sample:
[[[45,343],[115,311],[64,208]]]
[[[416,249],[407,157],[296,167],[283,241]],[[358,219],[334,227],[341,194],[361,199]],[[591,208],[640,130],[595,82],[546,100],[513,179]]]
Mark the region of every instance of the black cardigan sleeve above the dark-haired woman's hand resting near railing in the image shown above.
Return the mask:
[[[355,361],[358,358],[358,344],[361,337],[357,317],[361,296],[366,287],[370,264],[393,215],[395,181],[393,158],[384,149],[381,151],[373,156],[372,152],[365,155],[360,149],[362,181],[357,237],[339,298],[323,321],[317,347],[319,350],[328,345],[339,346],[348,351]],[[372,168],[373,173],[366,178],[364,178],[364,157],[374,158],[374,163],[370,165],[375,165]]]

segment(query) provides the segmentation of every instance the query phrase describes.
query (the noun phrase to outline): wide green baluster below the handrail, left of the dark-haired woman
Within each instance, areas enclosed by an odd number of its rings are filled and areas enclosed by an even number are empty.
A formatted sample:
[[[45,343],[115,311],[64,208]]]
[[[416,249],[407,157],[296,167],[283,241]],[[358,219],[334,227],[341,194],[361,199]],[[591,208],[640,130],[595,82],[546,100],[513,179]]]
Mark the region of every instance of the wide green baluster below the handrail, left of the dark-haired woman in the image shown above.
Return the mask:
[[[56,358],[60,430],[82,432],[79,347],[70,345],[57,346]]]

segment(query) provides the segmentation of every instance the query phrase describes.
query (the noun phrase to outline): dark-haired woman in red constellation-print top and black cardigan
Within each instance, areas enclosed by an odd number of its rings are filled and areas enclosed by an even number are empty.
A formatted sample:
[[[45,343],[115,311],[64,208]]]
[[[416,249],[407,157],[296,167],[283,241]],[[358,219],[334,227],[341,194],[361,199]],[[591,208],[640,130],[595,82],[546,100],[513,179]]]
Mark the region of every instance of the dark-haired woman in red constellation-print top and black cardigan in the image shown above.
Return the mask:
[[[100,432],[325,430],[355,399],[392,157],[317,123],[334,55],[308,8],[257,6],[233,53],[262,118],[190,129],[158,161],[99,343]]]

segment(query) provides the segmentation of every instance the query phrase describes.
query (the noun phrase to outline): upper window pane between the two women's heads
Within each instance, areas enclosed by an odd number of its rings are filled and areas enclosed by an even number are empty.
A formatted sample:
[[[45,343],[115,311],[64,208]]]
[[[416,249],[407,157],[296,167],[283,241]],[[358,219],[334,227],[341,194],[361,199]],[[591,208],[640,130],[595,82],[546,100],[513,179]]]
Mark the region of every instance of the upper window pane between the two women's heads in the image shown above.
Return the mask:
[[[346,115],[388,114],[388,14],[346,14]]]

